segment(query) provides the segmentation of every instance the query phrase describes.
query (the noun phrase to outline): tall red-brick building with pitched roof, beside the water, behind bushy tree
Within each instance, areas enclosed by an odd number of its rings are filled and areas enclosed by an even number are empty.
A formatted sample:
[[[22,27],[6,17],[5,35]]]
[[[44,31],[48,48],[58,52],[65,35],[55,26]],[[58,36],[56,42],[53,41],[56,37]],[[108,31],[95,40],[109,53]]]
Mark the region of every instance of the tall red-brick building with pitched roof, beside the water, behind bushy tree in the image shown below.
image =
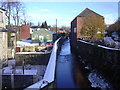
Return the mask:
[[[81,38],[82,35],[80,33],[82,27],[83,27],[83,22],[84,22],[84,18],[87,15],[97,15],[99,17],[101,17],[101,19],[104,20],[104,17],[101,16],[100,14],[90,10],[89,8],[86,8],[84,11],[82,11],[78,16],[76,16],[74,18],[74,20],[71,22],[71,33],[75,34],[76,38]]]

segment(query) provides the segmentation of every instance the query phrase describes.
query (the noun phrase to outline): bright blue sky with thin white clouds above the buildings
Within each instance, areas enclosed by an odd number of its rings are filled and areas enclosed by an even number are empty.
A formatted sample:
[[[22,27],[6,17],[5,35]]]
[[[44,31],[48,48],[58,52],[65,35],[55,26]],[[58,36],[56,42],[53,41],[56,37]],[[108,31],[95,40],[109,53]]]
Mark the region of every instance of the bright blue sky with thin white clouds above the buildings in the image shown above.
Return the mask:
[[[48,25],[70,26],[71,21],[85,8],[105,17],[106,24],[118,18],[118,2],[24,2],[28,20],[37,25],[47,21]]]

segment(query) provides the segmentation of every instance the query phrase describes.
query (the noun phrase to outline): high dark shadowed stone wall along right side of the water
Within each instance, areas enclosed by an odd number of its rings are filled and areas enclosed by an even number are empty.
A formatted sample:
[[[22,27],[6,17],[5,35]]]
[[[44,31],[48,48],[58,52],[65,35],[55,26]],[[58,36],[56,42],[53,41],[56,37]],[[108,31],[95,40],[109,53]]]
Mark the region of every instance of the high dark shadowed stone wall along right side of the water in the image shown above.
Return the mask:
[[[120,88],[120,50],[77,41],[77,55],[97,69],[113,87]]]

